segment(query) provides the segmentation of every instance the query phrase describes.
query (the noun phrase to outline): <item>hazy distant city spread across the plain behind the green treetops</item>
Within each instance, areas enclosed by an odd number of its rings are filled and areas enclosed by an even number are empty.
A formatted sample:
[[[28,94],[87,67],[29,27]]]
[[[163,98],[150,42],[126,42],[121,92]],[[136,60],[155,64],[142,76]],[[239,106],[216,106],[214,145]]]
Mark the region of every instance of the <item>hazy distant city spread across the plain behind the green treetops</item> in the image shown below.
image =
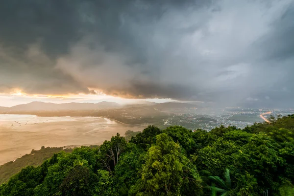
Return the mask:
[[[187,113],[173,114],[164,121],[164,126],[180,125],[188,129],[203,129],[210,131],[221,125],[236,126],[244,129],[246,126],[253,125],[255,122],[265,122],[260,114],[271,112],[264,115],[265,118],[273,116],[286,116],[294,112],[293,109],[250,109],[250,108],[226,108],[226,109],[192,109]],[[205,113],[204,113],[205,112]]]

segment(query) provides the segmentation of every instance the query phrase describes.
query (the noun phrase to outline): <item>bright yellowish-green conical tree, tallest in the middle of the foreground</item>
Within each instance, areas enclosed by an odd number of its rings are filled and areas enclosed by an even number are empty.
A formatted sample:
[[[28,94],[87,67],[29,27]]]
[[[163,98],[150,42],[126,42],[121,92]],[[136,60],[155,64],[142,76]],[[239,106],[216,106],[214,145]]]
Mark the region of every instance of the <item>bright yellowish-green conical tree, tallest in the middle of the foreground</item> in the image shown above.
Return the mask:
[[[196,194],[200,189],[200,176],[195,167],[181,153],[179,144],[166,133],[156,136],[156,145],[150,147],[142,168],[142,193],[150,196],[178,196],[187,184]],[[187,194],[189,195],[189,194]]]

